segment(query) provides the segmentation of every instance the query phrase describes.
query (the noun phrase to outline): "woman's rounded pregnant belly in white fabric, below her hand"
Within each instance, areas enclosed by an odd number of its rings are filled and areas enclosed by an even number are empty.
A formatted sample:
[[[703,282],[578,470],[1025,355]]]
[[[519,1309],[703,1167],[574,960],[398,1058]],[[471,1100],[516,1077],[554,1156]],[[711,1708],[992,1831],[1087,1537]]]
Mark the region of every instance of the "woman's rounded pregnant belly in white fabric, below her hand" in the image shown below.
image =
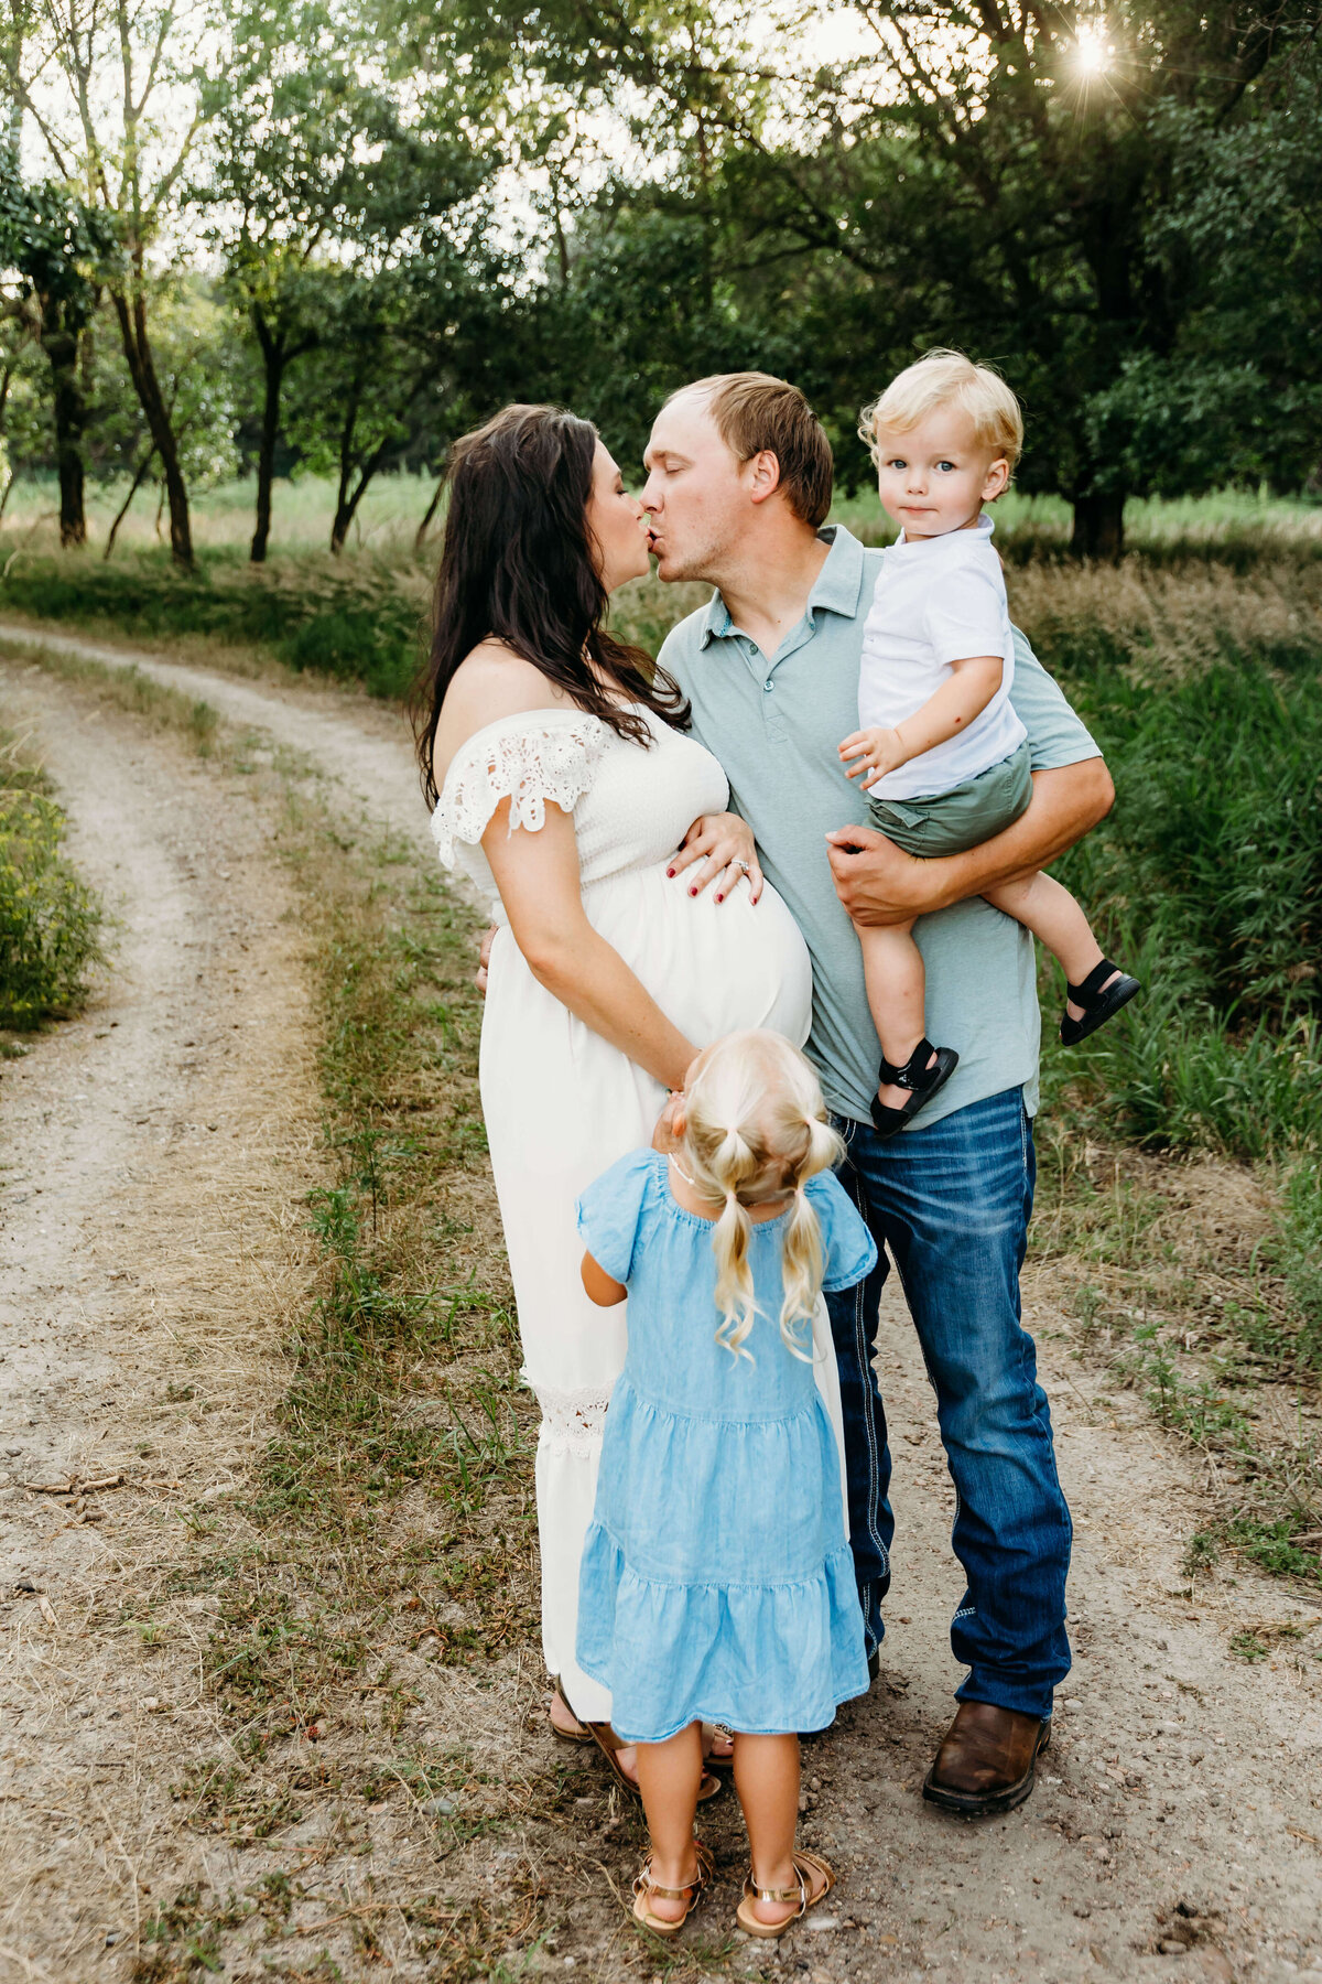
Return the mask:
[[[771,885],[757,905],[745,881],[717,903],[712,889],[692,897],[688,875],[668,879],[662,863],[593,883],[585,909],[694,1046],[743,1026],[771,1028],[795,1046],[809,1038],[809,950]]]

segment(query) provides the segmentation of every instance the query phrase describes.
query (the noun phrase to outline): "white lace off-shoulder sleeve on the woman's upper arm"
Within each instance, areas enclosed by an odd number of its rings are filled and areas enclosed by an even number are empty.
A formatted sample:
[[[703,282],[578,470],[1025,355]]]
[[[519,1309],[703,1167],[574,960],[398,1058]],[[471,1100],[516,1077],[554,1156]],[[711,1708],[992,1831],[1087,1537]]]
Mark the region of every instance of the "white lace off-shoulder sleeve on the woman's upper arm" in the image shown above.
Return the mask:
[[[454,867],[456,841],[478,845],[501,800],[509,800],[511,833],[515,827],[537,833],[547,817],[547,800],[571,813],[593,784],[608,744],[610,730],[599,716],[571,722],[529,718],[517,730],[470,738],[450,766],[432,813],[432,835],[444,865]]]

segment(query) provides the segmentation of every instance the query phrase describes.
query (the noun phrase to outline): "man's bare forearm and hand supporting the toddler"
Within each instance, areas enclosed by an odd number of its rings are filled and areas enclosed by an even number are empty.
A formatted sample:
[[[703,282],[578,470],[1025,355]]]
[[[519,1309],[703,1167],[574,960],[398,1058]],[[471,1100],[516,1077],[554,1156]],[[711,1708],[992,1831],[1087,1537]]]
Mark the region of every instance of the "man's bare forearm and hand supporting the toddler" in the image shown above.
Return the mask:
[[[1100,758],[1033,774],[1027,811],[995,839],[961,855],[922,861],[872,827],[826,835],[836,895],[854,923],[908,923],[971,895],[1033,875],[1080,841],[1112,809],[1116,788]]]

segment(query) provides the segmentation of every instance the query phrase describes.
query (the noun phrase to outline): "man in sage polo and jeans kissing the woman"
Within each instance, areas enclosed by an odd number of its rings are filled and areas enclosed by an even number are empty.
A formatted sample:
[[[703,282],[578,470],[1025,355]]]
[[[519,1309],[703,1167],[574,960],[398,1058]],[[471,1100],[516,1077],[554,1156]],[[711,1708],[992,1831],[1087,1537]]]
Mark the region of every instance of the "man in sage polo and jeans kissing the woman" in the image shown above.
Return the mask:
[[[846,1141],[842,1182],[878,1242],[874,1274],[828,1298],[868,1653],[876,1657],[884,1631],[894,1534],[872,1371],[890,1254],[937,1397],[957,1490],[953,1548],[967,1577],[951,1647],[969,1676],[924,1796],[963,1813],[1009,1811],[1033,1790],[1052,1688],[1070,1665],[1070,1516],[1019,1309],[1033,1206],[1035,952],[981,891],[1054,861],[1104,817],[1112,784],[1017,633],[1029,809],[969,853],[900,853],[860,823],[866,800],[836,752],[858,726],[862,629],[882,554],[821,528],[832,462],[807,401],[763,373],[704,379],[658,415],[646,468],[658,575],[716,587],[668,635],[660,663],[690,696],[694,734],[725,768],[731,806],[809,942],[809,1055]],[[682,859],[696,865],[700,855]],[[704,883],[712,867],[696,869]],[[884,1141],[870,1121],[880,1050],[850,917],[884,925],[914,915],[924,919],[928,1032],[959,1050],[959,1067],[914,1129]]]

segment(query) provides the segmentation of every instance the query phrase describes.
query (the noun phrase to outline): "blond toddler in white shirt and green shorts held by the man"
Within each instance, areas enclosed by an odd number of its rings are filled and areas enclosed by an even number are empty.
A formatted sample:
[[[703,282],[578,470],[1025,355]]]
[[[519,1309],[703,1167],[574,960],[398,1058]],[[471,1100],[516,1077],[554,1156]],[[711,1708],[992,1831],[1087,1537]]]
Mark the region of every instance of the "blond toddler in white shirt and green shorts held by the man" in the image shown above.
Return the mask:
[[[930,351],[864,407],[882,508],[900,540],[882,559],[862,635],[858,730],[840,744],[872,825],[910,855],[955,855],[993,839],[1033,798],[1029,734],[1009,700],[1015,639],[983,504],[1007,488],[1023,448],[1019,401],[987,365]],[[1118,970],[1082,909],[1050,875],[987,891],[1064,966],[1066,1048],[1120,1012],[1138,978]],[[959,1055],[924,1032],[924,962],[912,923],[856,925],[882,1044],[872,1121],[902,1131],[949,1081]]]

